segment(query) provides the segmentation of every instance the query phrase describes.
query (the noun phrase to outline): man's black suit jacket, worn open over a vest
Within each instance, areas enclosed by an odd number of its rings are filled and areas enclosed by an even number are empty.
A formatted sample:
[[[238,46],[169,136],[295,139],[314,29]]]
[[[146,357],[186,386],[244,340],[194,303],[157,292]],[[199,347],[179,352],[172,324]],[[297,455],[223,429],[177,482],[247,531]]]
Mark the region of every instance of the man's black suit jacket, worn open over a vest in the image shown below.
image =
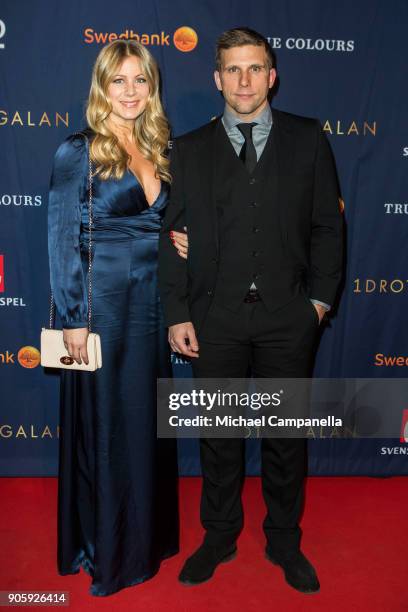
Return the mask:
[[[173,142],[170,201],[159,248],[159,290],[166,325],[200,328],[213,298],[219,236],[215,204],[221,118]],[[273,110],[279,223],[294,265],[307,273],[310,297],[333,304],[342,269],[342,215],[333,155],[319,121]],[[187,226],[187,261],[169,232]],[[239,248],[239,245],[237,245]],[[284,274],[285,271],[282,271]],[[278,272],[279,274],[279,272]],[[276,278],[277,284],[282,279]]]

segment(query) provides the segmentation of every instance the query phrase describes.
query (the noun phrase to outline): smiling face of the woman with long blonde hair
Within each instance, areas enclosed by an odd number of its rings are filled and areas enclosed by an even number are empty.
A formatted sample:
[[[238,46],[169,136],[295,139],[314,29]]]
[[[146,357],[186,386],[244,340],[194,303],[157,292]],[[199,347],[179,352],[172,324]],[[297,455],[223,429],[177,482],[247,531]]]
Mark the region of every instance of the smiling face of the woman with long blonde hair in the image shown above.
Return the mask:
[[[108,99],[112,104],[110,119],[133,123],[146,108],[149,85],[140,60],[127,57],[113,75],[108,86]]]

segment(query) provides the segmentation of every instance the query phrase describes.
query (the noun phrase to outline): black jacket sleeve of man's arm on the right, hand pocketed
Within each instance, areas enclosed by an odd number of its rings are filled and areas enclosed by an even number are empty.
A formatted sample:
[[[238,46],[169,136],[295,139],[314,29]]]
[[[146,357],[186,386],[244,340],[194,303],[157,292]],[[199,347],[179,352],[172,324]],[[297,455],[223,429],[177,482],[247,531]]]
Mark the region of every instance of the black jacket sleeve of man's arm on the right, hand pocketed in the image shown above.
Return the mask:
[[[316,129],[310,297],[332,305],[342,274],[343,217],[333,154],[319,122],[316,122]]]

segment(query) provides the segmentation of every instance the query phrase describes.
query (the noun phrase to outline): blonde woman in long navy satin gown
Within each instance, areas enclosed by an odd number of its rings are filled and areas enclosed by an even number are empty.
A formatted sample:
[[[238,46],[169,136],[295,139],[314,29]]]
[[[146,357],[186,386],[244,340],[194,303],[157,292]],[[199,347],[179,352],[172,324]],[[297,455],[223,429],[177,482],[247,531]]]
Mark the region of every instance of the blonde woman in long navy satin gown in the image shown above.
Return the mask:
[[[156,438],[156,379],[171,376],[156,279],[170,178],[158,82],[142,45],[107,45],[92,129],[60,146],[51,179],[51,286],[68,351],[86,361],[91,154],[91,314],[103,367],[61,373],[58,569],[85,569],[93,595],[143,582],[178,552],[176,444]]]

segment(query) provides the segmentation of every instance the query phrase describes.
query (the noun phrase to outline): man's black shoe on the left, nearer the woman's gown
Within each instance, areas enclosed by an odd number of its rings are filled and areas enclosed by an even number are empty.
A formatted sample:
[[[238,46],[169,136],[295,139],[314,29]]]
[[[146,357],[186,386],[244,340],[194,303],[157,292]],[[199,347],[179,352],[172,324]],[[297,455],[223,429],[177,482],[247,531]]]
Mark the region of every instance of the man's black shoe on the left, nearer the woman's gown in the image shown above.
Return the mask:
[[[217,565],[227,563],[236,556],[235,544],[229,547],[218,547],[204,543],[185,562],[179,575],[179,581],[188,586],[206,582],[212,577]]]

